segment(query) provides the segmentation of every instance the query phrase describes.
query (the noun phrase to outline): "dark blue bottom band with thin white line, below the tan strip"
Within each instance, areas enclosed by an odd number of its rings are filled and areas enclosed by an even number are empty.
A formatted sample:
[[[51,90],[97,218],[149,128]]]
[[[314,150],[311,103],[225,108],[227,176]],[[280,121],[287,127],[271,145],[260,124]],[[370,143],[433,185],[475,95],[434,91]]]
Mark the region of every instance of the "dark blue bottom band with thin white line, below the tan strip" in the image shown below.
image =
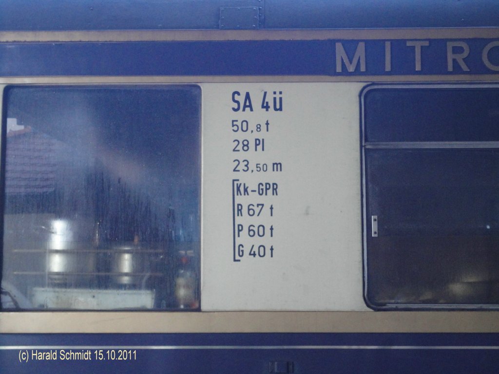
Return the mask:
[[[6,373],[254,374],[292,363],[296,374],[497,374],[498,342],[499,334],[6,334],[0,336],[0,368]],[[136,352],[133,359],[118,361],[119,350]],[[69,352],[92,359],[62,360]],[[37,359],[43,353],[57,359]],[[104,360],[96,360],[99,353]]]

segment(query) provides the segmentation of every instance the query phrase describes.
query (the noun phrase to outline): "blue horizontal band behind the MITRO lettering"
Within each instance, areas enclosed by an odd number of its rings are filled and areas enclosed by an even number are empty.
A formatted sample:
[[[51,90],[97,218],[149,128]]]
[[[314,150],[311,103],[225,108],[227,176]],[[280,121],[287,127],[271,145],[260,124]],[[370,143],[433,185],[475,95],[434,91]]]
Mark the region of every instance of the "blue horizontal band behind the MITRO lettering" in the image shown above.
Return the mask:
[[[495,39],[463,39],[470,53],[464,71],[454,61],[448,71],[447,42],[429,40],[421,47],[421,71],[416,48],[407,40],[391,40],[391,71],[385,71],[384,40],[262,40],[183,42],[31,42],[0,43],[1,76],[127,76],[127,75],[456,75],[497,74],[483,61],[483,50]],[[360,63],[348,72],[336,66],[336,43],[352,60],[365,43],[366,69]],[[461,52],[460,48],[455,53]],[[499,46],[487,54],[499,66]]]

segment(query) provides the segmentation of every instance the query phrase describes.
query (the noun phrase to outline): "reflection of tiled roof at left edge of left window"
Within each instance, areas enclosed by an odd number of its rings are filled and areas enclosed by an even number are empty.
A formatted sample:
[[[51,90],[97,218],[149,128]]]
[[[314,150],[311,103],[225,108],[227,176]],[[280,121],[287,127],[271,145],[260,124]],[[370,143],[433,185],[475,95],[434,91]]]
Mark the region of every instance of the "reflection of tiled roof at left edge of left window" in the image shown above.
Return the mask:
[[[5,193],[36,194],[55,189],[57,154],[63,143],[29,127],[7,134]]]

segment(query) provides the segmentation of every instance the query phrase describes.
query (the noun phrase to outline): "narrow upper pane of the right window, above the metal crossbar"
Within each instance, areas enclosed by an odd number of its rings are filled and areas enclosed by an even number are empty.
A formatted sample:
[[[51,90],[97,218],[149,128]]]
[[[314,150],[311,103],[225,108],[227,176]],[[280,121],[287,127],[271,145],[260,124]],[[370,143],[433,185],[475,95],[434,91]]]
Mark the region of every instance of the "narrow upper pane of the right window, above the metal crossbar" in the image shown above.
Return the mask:
[[[366,142],[499,141],[499,88],[383,88],[364,97]]]

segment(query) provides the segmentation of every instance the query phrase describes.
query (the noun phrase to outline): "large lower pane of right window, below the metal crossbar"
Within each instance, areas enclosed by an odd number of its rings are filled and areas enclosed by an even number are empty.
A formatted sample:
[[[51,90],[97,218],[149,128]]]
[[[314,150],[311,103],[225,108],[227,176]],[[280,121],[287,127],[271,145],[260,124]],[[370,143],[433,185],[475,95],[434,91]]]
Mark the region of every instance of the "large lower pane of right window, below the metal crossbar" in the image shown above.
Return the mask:
[[[499,150],[366,150],[366,199],[370,303],[499,305]]]

